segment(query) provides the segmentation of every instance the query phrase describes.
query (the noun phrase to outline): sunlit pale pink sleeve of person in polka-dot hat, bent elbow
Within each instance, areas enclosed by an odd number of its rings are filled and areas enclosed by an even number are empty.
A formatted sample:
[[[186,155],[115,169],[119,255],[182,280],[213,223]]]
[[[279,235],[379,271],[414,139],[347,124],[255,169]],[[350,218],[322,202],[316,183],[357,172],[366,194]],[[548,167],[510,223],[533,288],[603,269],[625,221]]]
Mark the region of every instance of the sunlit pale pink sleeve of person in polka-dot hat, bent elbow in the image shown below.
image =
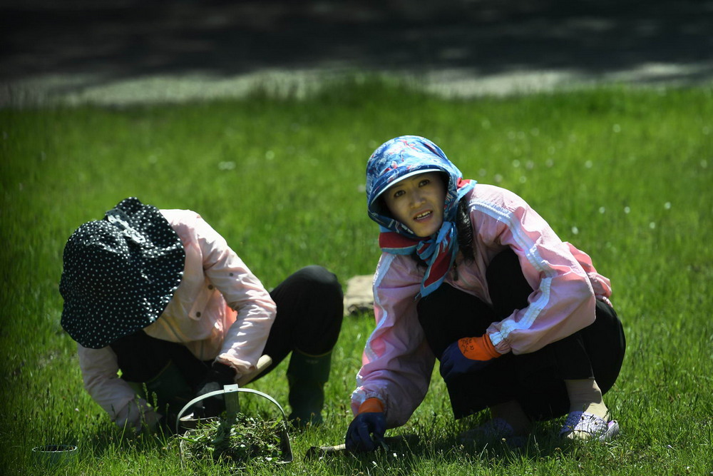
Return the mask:
[[[235,369],[238,376],[255,370],[277,314],[259,279],[225,241],[200,216],[195,223],[203,257],[203,270],[230,308],[237,311],[227,329],[217,360]]]

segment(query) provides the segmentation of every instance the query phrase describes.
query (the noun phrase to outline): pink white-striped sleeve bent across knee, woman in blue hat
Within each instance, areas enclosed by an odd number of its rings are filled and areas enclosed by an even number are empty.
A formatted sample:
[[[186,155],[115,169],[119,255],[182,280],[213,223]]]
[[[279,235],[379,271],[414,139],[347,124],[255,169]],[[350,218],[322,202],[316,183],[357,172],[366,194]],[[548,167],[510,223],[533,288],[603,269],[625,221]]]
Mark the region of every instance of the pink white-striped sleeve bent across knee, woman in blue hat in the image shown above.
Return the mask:
[[[595,293],[582,265],[522,198],[491,187],[471,199],[475,246],[513,249],[533,288],[528,305],[487,333],[500,353],[531,353],[595,320]]]

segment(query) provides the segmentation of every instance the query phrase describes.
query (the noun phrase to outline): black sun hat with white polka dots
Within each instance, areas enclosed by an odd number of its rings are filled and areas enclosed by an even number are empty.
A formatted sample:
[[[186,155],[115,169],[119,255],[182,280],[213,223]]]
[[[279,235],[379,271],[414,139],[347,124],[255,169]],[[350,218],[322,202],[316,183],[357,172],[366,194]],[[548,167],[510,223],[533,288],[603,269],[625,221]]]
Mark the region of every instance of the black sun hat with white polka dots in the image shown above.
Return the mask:
[[[63,260],[62,327],[98,349],[158,319],[183,278],[185,250],[158,208],[131,197],[77,228]]]

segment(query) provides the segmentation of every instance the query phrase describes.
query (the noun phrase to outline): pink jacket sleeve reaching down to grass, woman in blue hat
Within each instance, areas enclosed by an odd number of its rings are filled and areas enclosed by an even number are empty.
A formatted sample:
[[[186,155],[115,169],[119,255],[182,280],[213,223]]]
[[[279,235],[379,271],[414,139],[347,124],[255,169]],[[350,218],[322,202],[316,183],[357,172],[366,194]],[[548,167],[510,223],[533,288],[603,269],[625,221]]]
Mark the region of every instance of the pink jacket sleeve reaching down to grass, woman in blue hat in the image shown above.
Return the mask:
[[[374,275],[376,328],[366,341],[352,393],[355,414],[367,398],[384,402],[388,427],[404,425],[424,400],[435,361],[416,315],[421,277],[409,260],[381,255]]]

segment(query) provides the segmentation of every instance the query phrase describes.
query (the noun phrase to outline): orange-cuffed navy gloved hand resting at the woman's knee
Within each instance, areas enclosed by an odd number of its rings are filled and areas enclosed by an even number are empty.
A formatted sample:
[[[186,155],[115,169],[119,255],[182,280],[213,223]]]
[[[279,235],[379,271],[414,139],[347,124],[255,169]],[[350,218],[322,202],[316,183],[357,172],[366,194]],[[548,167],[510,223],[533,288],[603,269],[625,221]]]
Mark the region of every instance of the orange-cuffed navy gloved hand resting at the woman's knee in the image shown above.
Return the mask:
[[[464,373],[475,372],[489,365],[502,354],[495,350],[487,334],[466,337],[448,345],[441,355],[441,377],[450,382]]]

